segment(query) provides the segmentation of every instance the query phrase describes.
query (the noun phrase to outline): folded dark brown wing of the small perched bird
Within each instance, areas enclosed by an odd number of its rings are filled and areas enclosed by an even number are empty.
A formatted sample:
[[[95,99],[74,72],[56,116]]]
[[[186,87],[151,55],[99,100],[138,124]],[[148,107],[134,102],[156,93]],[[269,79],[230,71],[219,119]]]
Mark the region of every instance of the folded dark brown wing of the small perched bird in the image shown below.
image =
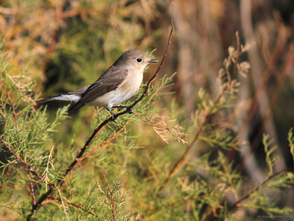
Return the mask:
[[[98,80],[91,84],[82,94],[81,99],[72,106],[69,111],[80,108],[86,103],[115,90],[125,79],[128,74],[127,69],[111,66],[108,68]]]

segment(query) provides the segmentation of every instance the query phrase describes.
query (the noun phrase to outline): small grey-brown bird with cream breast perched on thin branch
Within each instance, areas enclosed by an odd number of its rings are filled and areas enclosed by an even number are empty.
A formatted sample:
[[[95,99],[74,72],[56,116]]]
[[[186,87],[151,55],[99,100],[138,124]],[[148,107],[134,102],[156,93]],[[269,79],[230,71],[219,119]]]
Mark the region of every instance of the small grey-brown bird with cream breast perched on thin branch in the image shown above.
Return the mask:
[[[112,115],[110,108],[126,108],[131,113],[129,106],[117,106],[131,98],[140,88],[143,80],[143,70],[149,63],[158,62],[151,59],[140,50],[128,50],[111,65],[93,84],[78,88],[66,94],[45,98],[40,102],[50,100],[69,100],[74,104],[69,112],[84,105],[105,107]]]

